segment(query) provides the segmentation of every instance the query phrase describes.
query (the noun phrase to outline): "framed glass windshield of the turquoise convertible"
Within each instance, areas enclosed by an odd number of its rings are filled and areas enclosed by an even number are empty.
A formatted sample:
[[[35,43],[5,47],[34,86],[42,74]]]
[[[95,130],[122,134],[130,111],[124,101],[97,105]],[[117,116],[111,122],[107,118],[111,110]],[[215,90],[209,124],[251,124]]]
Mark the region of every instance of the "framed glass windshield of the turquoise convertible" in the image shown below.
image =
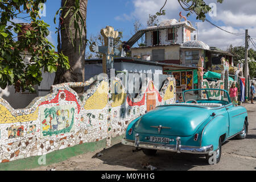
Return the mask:
[[[184,101],[187,103],[218,103],[222,105],[229,104],[229,97],[225,90],[220,89],[194,89],[187,90],[184,93]]]

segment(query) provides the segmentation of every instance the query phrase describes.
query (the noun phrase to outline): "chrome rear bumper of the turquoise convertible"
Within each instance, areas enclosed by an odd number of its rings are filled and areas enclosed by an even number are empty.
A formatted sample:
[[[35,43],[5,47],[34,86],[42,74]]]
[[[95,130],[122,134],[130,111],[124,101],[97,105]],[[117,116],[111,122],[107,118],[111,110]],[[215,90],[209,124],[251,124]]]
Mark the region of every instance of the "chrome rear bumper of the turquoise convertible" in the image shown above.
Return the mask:
[[[150,143],[150,142],[139,142],[139,136],[136,135],[135,140],[122,139],[122,144],[125,146],[131,146],[136,148],[146,148],[152,150],[163,150],[177,153],[189,153],[189,154],[208,154],[213,151],[213,145],[204,147],[192,147],[192,146],[181,146],[180,137],[176,138],[176,145],[174,144],[162,144],[162,143]]]

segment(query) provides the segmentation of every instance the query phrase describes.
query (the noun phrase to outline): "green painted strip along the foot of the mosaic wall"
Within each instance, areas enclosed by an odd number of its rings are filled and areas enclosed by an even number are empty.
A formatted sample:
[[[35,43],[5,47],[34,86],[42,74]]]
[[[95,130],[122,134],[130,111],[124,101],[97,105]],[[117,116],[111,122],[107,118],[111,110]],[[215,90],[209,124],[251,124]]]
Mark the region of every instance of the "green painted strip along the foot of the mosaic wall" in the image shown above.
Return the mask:
[[[112,146],[121,142],[123,135],[112,138]],[[98,142],[83,143],[73,147],[64,148],[63,150],[53,151],[46,154],[46,164],[39,165],[38,159],[41,156],[31,156],[29,158],[18,159],[8,163],[0,164],[0,171],[22,171],[26,169],[38,168],[42,166],[48,166],[49,164],[55,164],[63,162],[73,156],[85,154],[86,152],[93,152],[106,147],[106,139]]]

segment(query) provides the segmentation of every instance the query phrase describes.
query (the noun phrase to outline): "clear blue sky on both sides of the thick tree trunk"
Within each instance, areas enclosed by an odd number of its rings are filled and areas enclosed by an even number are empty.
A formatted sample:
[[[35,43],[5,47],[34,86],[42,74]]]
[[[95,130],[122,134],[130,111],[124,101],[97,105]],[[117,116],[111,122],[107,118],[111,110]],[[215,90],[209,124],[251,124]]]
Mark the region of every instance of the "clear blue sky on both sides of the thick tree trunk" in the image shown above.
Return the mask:
[[[101,28],[106,26],[113,26],[119,31],[123,31],[123,39],[129,39],[131,37],[130,31],[132,30],[133,23],[124,20],[116,20],[115,17],[129,13],[133,10],[130,6],[131,2],[127,1],[123,3],[123,0],[115,1],[103,1],[103,0],[89,0],[87,9],[87,36],[96,35],[100,32]],[[55,27],[57,27],[59,20],[56,24],[53,22],[56,11],[60,7],[60,0],[48,0],[46,3],[46,17],[42,19],[51,26],[50,40],[55,46],[57,46],[57,35],[55,34]]]

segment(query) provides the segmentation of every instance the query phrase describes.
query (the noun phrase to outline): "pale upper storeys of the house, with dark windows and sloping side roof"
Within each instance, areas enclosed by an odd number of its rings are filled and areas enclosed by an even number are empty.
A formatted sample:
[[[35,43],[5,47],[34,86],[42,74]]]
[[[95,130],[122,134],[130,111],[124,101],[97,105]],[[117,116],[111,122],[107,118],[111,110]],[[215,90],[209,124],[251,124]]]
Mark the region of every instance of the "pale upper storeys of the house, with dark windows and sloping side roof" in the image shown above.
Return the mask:
[[[165,20],[159,26],[138,31],[127,44],[132,47],[145,34],[146,45],[131,48],[132,57],[141,55],[142,59],[159,63],[182,64],[180,46],[191,40],[191,33],[195,30],[189,21]]]

